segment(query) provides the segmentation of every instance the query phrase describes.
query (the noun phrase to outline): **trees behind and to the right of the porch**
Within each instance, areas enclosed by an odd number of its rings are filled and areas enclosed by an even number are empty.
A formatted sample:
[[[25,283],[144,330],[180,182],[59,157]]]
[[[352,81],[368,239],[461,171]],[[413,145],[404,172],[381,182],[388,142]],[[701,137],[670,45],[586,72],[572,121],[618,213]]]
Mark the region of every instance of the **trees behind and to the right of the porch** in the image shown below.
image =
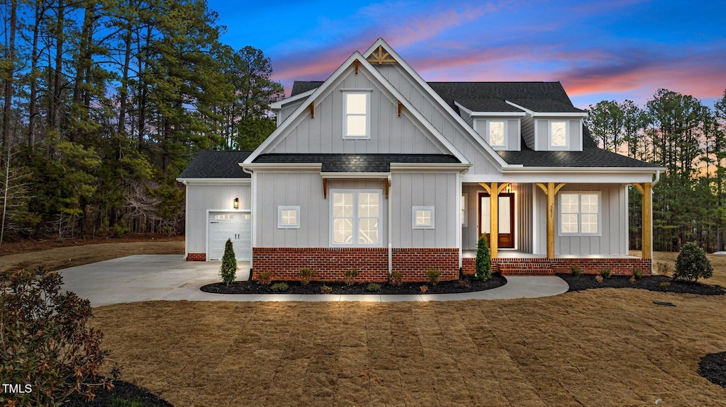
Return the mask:
[[[601,101],[585,124],[600,147],[666,168],[653,188],[653,246],[678,251],[695,241],[725,248],[726,91],[713,108],[661,89],[645,106]],[[629,192],[630,247],[640,248],[640,193]]]

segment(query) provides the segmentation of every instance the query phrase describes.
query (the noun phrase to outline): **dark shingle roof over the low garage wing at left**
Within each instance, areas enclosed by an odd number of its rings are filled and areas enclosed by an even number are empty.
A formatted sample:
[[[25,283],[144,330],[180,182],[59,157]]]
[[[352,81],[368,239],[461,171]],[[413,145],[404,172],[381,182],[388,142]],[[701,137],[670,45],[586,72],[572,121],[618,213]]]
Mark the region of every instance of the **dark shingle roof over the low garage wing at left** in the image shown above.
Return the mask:
[[[252,151],[200,151],[179,178],[249,178],[238,164]]]

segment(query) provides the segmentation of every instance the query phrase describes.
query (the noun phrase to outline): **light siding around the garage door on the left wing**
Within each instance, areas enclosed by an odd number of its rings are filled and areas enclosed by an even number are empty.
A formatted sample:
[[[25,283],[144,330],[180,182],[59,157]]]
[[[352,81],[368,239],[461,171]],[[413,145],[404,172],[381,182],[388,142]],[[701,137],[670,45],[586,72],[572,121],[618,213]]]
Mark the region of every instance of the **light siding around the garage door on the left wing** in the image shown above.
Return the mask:
[[[187,184],[187,253],[206,253],[207,210],[234,209],[234,198],[240,198],[240,210],[252,209],[249,184]]]

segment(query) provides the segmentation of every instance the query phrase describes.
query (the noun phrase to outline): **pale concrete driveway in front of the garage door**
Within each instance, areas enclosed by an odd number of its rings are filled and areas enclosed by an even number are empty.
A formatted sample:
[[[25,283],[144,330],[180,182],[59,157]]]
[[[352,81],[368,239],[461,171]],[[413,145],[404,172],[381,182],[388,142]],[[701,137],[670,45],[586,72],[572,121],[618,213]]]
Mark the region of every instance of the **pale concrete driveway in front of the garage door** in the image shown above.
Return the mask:
[[[199,288],[219,282],[221,261],[184,261],[178,254],[126,256],[62,269],[65,285],[92,306],[156,300],[218,300]],[[238,262],[237,280],[247,280],[248,262]]]

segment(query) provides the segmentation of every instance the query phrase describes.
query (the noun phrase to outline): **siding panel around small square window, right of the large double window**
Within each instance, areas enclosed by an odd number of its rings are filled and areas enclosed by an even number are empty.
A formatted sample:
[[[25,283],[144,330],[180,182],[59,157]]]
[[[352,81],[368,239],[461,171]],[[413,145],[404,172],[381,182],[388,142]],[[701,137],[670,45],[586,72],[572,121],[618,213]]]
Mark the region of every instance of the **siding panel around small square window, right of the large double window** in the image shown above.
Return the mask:
[[[457,247],[456,173],[394,172],[391,180],[394,248]],[[412,207],[433,206],[434,228],[413,229]]]

